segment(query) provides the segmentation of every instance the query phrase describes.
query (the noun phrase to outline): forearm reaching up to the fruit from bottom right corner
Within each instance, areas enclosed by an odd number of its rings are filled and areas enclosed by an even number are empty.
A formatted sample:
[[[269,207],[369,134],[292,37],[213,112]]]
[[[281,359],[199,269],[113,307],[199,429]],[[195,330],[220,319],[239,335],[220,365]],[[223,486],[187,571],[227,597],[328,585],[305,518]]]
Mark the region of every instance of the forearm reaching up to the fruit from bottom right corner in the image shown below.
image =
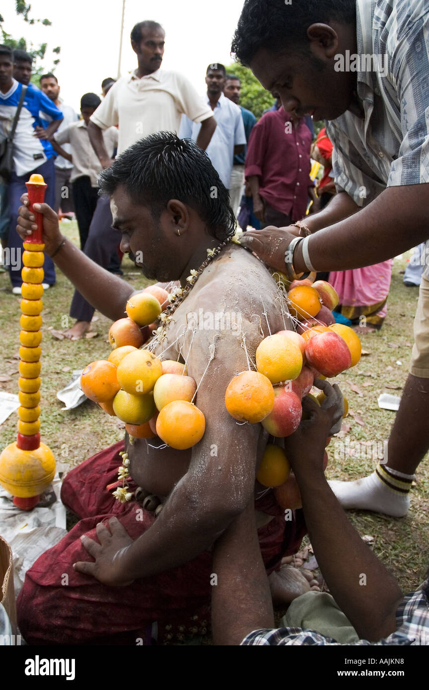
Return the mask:
[[[402,593],[361,540],[323,473],[297,477],[308,535],[330,593],[361,638],[375,642],[396,629]]]

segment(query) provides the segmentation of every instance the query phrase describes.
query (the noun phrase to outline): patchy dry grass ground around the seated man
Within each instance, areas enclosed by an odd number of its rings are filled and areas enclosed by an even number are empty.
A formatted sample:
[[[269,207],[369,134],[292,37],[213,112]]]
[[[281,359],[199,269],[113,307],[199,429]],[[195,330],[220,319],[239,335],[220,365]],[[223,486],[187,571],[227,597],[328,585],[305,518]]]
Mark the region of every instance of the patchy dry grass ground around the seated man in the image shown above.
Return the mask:
[[[61,230],[77,244],[76,224],[63,223]],[[395,261],[388,315],[383,328],[361,338],[363,349],[369,351],[370,355],[362,357],[352,371],[339,377],[350,408],[361,415],[365,422],[365,426],[359,426],[353,417],[347,417],[346,424],[351,426],[348,434],[350,441],[377,442],[386,439],[395,418],[395,413],[379,409],[377,398],[385,392],[401,394],[400,390],[388,389],[386,385],[403,386],[410,364],[409,345],[412,344],[412,322],[418,290],[403,286],[399,270],[405,266],[405,258]],[[124,278],[136,288],[144,288],[148,284],[127,258],[123,261],[123,271]],[[0,295],[0,373],[11,377],[10,382],[0,383],[0,386],[5,391],[17,393],[18,360],[14,359],[14,355],[19,350],[19,297],[12,295],[6,274],[0,274]],[[57,272],[57,286],[48,290],[43,297],[41,435],[43,442],[50,446],[65,469],[79,464],[123,437],[123,424],[115,417],[105,415],[89,401],[76,410],[61,411],[63,405],[57,400],[57,391],[70,381],[72,370],[83,368],[94,359],[106,358],[110,352],[107,342],[110,321],[98,313],[99,318],[91,328],[97,331],[98,337],[70,342],[67,339],[59,341],[50,335],[50,328],[62,330],[66,326],[71,298],[70,283]],[[396,364],[398,360],[402,362],[401,365]],[[64,371],[66,367],[69,369]],[[361,386],[363,396],[354,393],[346,381]],[[364,383],[373,385],[363,386]],[[427,411],[421,410],[421,415],[427,415]],[[2,446],[14,440],[16,422],[17,415],[12,415],[1,425]],[[370,459],[350,457],[344,461],[335,460],[333,443],[328,447],[329,478],[357,479],[374,469],[375,461]],[[426,462],[419,467],[407,517],[395,520],[363,511],[351,511],[349,515],[361,535],[374,538],[375,553],[397,576],[403,589],[411,590],[423,580],[429,563],[429,471]]]

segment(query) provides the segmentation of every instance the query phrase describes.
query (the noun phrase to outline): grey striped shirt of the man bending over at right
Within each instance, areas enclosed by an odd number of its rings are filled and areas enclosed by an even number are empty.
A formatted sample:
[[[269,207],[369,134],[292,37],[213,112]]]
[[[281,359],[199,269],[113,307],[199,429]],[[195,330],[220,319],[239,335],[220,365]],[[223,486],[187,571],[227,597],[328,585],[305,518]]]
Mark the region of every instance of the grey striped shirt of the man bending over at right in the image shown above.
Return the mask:
[[[337,68],[357,73],[364,116],[347,110],[326,130],[337,189],[363,207],[386,187],[429,182],[429,4],[356,6],[357,55],[346,53]]]

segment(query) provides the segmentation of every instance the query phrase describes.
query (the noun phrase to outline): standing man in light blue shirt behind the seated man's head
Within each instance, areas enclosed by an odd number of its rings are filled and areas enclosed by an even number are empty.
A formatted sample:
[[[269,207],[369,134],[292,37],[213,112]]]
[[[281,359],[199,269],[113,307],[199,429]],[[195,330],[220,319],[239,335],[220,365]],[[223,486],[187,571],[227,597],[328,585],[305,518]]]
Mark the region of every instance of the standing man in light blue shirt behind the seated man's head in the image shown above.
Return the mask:
[[[213,110],[217,128],[206,153],[221,181],[230,190],[233,159],[235,155],[243,154],[246,134],[240,108],[223,95],[225,81],[225,67],[219,62],[210,64],[206,72],[206,98]],[[197,141],[200,128],[201,124],[182,115],[179,137]]]

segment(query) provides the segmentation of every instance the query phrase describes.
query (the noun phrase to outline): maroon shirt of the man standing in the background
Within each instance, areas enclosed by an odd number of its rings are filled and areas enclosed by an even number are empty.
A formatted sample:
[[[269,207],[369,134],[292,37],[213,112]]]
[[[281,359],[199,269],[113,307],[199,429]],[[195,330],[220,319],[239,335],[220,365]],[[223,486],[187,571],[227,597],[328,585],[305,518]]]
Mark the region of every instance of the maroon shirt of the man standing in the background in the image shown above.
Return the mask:
[[[311,132],[303,117],[271,110],[252,129],[246,179],[261,228],[288,226],[306,215],[310,180]]]

